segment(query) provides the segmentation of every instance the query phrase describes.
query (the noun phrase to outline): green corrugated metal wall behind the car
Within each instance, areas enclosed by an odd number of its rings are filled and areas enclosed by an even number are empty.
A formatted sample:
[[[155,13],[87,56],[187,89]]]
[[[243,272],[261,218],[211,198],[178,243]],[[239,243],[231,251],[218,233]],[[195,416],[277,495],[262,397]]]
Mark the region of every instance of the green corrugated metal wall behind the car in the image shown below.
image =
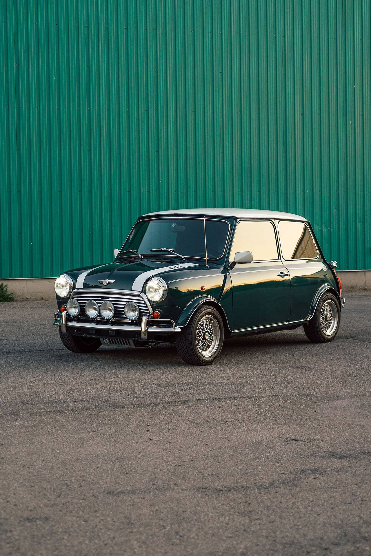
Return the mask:
[[[295,212],[371,269],[371,3],[0,0],[0,276],[109,261],[136,217]]]

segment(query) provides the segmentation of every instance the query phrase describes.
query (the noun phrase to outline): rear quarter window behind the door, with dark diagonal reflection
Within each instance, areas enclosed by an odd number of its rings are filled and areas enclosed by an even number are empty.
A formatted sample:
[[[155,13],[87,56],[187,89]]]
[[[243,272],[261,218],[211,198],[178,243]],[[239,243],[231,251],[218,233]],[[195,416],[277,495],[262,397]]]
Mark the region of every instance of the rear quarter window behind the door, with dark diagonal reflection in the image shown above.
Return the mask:
[[[304,222],[287,222],[282,220],[278,225],[278,234],[283,257],[292,259],[316,259],[317,247],[308,226]]]

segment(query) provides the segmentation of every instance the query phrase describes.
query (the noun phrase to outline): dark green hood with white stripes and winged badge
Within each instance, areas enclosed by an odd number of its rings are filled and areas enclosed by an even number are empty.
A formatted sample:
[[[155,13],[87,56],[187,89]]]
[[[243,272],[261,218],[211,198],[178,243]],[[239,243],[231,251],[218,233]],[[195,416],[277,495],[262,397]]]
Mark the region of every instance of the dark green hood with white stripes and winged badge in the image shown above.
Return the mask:
[[[173,262],[160,260],[142,260],[135,262],[111,262],[79,271],[71,271],[76,288],[103,288],[112,290],[142,291],[147,280],[152,276],[162,276],[169,280],[169,275],[182,274],[185,270],[202,269],[205,264],[195,262]],[[173,278],[173,276],[171,276]]]

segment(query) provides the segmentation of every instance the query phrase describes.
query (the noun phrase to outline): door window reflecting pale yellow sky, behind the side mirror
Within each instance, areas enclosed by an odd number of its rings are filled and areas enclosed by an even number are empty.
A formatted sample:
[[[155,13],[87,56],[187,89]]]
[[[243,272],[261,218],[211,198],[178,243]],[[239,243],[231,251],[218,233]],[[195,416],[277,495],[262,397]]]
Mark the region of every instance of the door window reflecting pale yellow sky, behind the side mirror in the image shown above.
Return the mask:
[[[251,251],[253,261],[278,259],[276,236],[271,222],[239,222],[235,231],[230,260],[239,251]]]

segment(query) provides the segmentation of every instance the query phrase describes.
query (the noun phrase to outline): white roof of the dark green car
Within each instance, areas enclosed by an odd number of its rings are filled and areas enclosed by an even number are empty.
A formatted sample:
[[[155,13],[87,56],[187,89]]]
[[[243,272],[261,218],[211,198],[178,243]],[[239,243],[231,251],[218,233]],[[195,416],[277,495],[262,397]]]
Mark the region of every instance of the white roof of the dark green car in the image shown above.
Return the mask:
[[[164,210],[159,212],[149,212],[144,216],[159,215],[202,215],[202,216],[231,216],[233,218],[269,218],[269,219],[285,219],[285,220],[301,220],[306,222],[303,216],[290,214],[290,212],[276,212],[273,210],[257,210],[257,209],[177,209]]]

